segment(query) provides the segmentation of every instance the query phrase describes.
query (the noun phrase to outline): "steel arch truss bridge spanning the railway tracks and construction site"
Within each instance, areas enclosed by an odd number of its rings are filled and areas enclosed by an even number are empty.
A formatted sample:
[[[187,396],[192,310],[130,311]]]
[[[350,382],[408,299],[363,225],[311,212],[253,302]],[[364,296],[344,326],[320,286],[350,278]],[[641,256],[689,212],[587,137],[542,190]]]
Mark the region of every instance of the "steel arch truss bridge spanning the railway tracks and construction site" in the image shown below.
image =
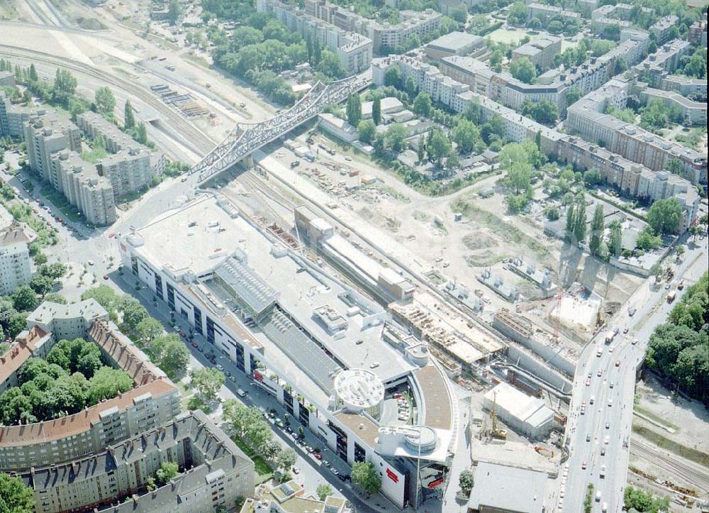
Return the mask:
[[[287,111],[261,123],[237,123],[216,148],[192,167],[190,174],[199,174],[198,183],[203,184],[255,150],[317,116],[326,106],[343,101],[350,94],[361,91],[370,82],[371,79],[363,75],[353,75],[327,85],[318,81],[308,94]]]

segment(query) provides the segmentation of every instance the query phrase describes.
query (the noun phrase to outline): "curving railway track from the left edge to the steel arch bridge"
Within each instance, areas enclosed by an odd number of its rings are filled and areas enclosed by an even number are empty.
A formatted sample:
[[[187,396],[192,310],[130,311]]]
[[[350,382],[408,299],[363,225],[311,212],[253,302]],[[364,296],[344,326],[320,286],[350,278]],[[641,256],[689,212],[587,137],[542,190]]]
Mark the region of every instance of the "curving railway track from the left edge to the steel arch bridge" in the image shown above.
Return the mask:
[[[177,112],[173,111],[169,106],[163,104],[162,101],[157,99],[155,95],[148,92],[146,89],[143,89],[143,87],[131,82],[129,79],[124,79],[123,77],[106,70],[97,70],[94,67],[84,65],[81,62],[67,59],[65,57],[57,57],[55,55],[50,55],[37,50],[26,50],[25,48],[19,48],[12,45],[0,45],[0,55],[29,59],[36,62],[44,62],[45,64],[56,67],[63,67],[67,70],[72,70],[77,73],[82,73],[83,75],[88,75],[89,77],[99,79],[106,84],[110,84],[113,87],[128,92],[132,96],[135,96],[145,104],[149,105],[152,109],[160,112],[160,114],[164,116],[165,121],[176,128],[175,131],[181,139],[179,140],[179,143],[194,151],[194,153],[197,153],[198,155],[205,155],[211,151],[216,144],[215,141],[205,136],[204,133],[192,126],[191,123],[182,118],[182,116],[177,114]]]

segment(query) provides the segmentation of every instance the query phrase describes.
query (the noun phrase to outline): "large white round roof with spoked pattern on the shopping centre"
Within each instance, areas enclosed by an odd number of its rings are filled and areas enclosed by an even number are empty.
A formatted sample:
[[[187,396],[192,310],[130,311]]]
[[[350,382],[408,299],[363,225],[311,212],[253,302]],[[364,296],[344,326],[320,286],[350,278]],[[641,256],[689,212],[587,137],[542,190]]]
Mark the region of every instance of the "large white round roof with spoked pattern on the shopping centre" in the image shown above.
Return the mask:
[[[369,370],[343,370],[335,376],[335,399],[338,407],[352,412],[365,411],[379,419],[384,402],[384,384]]]

